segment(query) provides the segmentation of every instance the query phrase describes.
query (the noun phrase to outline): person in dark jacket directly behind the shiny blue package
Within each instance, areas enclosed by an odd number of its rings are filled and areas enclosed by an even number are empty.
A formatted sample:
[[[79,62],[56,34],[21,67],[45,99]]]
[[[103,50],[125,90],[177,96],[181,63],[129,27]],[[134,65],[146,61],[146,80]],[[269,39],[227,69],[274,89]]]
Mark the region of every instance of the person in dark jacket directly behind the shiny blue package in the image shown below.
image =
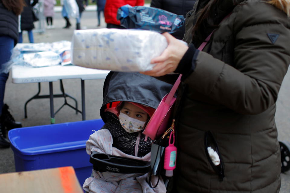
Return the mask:
[[[155,7],[169,11],[177,15],[183,15],[184,18],[188,11],[192,10],[196,0],[152,0],[150,7]],[[171,33],[175,38],[182,40],[185,33],[185,25],[180,27],[176,32]]]

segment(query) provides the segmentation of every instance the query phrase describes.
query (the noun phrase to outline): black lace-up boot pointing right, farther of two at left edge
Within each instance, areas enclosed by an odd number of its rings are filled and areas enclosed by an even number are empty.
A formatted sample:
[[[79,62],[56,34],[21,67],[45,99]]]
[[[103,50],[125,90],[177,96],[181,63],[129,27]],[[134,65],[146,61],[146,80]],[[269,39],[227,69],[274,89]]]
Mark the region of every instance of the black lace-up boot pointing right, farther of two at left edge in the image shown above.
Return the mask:
[[[6,127],[8,130],[22,127],[21,122],[15,121],[10,112],[8,111],[8,109],[9,109],[8,105],[4,104],[0,120],[2,126]]]

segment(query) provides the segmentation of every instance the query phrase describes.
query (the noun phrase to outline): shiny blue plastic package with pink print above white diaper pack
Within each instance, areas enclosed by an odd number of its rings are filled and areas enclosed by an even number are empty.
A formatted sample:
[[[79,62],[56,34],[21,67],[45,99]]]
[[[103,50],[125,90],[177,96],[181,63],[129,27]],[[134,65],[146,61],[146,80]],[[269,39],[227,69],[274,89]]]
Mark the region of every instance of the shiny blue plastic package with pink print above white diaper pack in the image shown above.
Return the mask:
[[[118,9],[117,19],[126,28],[172,33],[184,24],[183,15],[159,8],[124,5]]]

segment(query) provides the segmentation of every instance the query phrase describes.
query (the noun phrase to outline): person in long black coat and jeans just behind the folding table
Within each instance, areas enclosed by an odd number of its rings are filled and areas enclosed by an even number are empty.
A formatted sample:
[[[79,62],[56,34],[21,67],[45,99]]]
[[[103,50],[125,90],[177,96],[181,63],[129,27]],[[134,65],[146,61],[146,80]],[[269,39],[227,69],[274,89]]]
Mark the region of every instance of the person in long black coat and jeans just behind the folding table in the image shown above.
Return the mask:
[[[21,13],[21,22],[20,22],[20,29],[21,32],[19,32],[19,40],[18,43],[22,43],[22,32],[23,30],[26,30],[28,32],[28,38],[30,43],[34,43],[33,39],[33,33],[32,29],[34,29],[34,24],[33,24],[33,13],[32,13],[32,8],[34,5],[38,3],[38,0],[33,0],[32,3],[30,3],[30,0],[25,0],[26,6],[23,8],[23,11]]]

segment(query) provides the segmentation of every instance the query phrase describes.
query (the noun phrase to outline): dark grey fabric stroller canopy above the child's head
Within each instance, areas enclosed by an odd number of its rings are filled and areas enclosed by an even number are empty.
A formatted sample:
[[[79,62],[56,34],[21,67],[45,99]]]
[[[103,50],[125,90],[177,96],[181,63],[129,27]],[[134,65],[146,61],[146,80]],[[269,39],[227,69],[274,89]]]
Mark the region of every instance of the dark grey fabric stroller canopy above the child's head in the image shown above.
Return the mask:
[[[156,109],[171,88],[171,84],[138,72],[111,71],[104,82],[101,118],[106,122],[104,116],[106,104],[115,101],[130,101]]]

